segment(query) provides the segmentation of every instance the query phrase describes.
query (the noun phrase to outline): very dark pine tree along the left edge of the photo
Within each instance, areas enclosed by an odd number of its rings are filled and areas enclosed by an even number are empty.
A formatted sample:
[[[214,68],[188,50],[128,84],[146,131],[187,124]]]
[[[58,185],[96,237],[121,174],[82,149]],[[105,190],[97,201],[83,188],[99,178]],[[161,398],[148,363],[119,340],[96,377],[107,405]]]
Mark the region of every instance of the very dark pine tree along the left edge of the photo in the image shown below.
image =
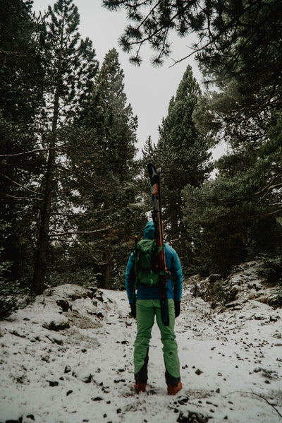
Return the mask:
[[[42,201],[42,157],[36,136],[42,66],[30,1],[0,1],[0,97],[0,221],[6,227],[1,258],[11,263],[5,272],[7,283],[28,285],[34,215]]]

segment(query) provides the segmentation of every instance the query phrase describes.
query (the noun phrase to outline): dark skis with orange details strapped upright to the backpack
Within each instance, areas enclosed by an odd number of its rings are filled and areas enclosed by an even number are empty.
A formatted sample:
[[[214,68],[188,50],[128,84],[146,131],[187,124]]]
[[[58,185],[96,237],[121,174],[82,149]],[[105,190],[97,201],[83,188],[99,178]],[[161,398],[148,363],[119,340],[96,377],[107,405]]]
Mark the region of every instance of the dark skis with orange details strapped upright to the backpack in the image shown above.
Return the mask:
[[[159,175],[161,169],[156,169],[152,163],[147,165],[149,170],[149,178],[151,181],[152,189],[152,201],[153,201],[153,220],[154,220],[154,230],[155,230],[155,239],[157,246],[161,247],[159,249],[159,285],[161,292],[161,321],[164,323],[164,326],[169,326],[169,316],[168,316],[168,298],[167,298],[167,273],[166,273],[166,257],[164,254],[164,230],[163,223],[161,220],[161,191],[160,191],[160,181]]]

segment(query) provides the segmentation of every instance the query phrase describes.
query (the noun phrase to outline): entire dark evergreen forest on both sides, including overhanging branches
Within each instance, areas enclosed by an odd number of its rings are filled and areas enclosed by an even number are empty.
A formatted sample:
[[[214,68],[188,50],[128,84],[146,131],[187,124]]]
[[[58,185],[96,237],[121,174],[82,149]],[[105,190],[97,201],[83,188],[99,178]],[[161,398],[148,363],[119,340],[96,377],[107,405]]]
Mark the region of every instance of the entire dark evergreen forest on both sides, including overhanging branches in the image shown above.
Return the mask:
[[[203,95],[188,66],[157,146],[149,137],[136,161],[137,117],[116,50],[99,68],[73,0],[57,0],[38,18],[30,0],[0,0],[2,317],[27,287],[37,294],[47,283],[123,287],[134,236],[142,237],[152,208],[148,162],[161,167],[166,238],[185,273],[226,276],[263,258],[264,276],[280,283],[278,0],[104,5],[127,11],[120,41],[135,64],[145,42],[159,65],[171,30],[197,35],[192,54],[216,91]],[[220,141],[228,151],[211,174],[210,149]]]

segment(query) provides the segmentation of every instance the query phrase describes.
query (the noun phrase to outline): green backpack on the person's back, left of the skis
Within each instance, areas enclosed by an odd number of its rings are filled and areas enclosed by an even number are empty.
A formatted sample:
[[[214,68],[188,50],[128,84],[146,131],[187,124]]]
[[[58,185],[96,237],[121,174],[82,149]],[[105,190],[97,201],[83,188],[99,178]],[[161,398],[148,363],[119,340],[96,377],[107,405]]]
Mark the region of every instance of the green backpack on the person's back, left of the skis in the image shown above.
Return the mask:
[[[159,252],[164,246],[157,246],[155,239],[142,239],[137,242],[134,254],[136,283],[157,285],[159,282]]]

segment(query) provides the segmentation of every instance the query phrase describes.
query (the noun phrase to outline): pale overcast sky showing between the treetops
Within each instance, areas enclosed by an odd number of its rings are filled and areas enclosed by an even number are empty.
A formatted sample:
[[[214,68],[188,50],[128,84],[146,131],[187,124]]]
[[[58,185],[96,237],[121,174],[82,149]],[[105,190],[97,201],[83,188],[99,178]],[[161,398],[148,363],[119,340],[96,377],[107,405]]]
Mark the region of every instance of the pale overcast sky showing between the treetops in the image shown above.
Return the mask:
[[[53,5],[54,0],[34,0],[35,11],[45,11],[47,6]],[[173,41],[171,59],[167,59],[161,68],[153,68],[149,63],[152,50],[142,52],[143,62],[140,67],[129,63],[129,55],[122,52],[118,46],[118,37],[126,25],[123,11],[111,12],[101,6],[101,0],[74,0],[80,13],[80,34],[82,38],[89,37],[96,51],[96,58],[102,65],[104,56],[109,49],[115,47],[119,54],[121,68],[125,73],[125,94],[128,102],[133,107],[133,113],[138,117],[137,148],[145,144],[148,136],[157,143],[161,119],[166,117],[168,103],[176,94],[178,85],[183,77],[185,68],[190,64],[195,78],[200,82],[201,76],[197,64],[191,58],[176,66],[172,59],[180,59],[191,50],[188,49],[188,40],[179,37],[171,38]]]

